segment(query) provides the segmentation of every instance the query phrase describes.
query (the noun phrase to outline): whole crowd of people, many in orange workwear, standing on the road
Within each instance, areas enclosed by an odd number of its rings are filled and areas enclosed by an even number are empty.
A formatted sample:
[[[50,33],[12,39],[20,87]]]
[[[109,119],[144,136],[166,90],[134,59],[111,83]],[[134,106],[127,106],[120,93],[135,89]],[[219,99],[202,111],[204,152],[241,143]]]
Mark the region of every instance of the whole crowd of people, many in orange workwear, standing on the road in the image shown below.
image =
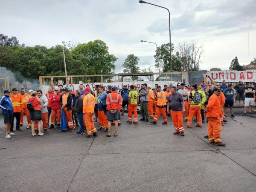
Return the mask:
[[[118,126],[121,124],[120,117],[124,115],[125,108],[128,109],[127,123],[138,124],[137,106],[140,106],[140,121],[157,124],[160,116],[163,118],[163,125],[167,124],[167,119],[172,118],[175,128],[174,135],[184,136],[183,121],[186,127],[202,127],[202,123],[207,118],[208,135],[210,143],[218,146],[225,146],[221,141],[221,129],[225,119],[227,108],[230,108],[230,116],[234,117],[233,104],[235,99],[244,103],[244,114],[251,116],[252,106],[255,101],[256,83],[248,83],[245,86],[242,81],[238,85],[226,85],[223,81],[220,85],[215,83],[208,75],[203,75],[204,81],[198,85],[185,85],[179,83],[173,86],[172,83],[164,85],[163,89],[158,84],[154,87],[143,83],[139,90],[137,86],[123,86],[119,90],[116,86],[96,85],[95,90],[91,90],[87,84],[79,85],[78,90],[71,91],[69,85],[70,78],[67,77],[65,86],[54,86],[53,77],[51,86],[46,94],[41,90],[12,89],[4,91],[4,96],[0,100],[0,107],[5,123],[5,138],[16,135],[14,132],[14,119],[16,119],[16,130],[21,131],[23,126],[23,116],[26,115],[27,127],[31,129],[31,135],[44,135],[48,129],[58,128],[59,131],[74,131],[80,125],[77,135],[83,135],[86,130],[86,137],[97,136],[98,131],[106,132],[107,137],[111,137],[111,125],[114,125],[114,136],[118,136]],[[208,81],[211,83],[208,84]],[[256,110],[253,110],[254,112]],[[95,115],[95,120],[93,120]],[[134,116],[132,118],[132,116]],[[133,120],[134,121],[133,121]],[[95,123],[99,120],[99,128]],[[41,123],[42,122],[42,123]],[[41,130],[42,126],[42,130]]]

